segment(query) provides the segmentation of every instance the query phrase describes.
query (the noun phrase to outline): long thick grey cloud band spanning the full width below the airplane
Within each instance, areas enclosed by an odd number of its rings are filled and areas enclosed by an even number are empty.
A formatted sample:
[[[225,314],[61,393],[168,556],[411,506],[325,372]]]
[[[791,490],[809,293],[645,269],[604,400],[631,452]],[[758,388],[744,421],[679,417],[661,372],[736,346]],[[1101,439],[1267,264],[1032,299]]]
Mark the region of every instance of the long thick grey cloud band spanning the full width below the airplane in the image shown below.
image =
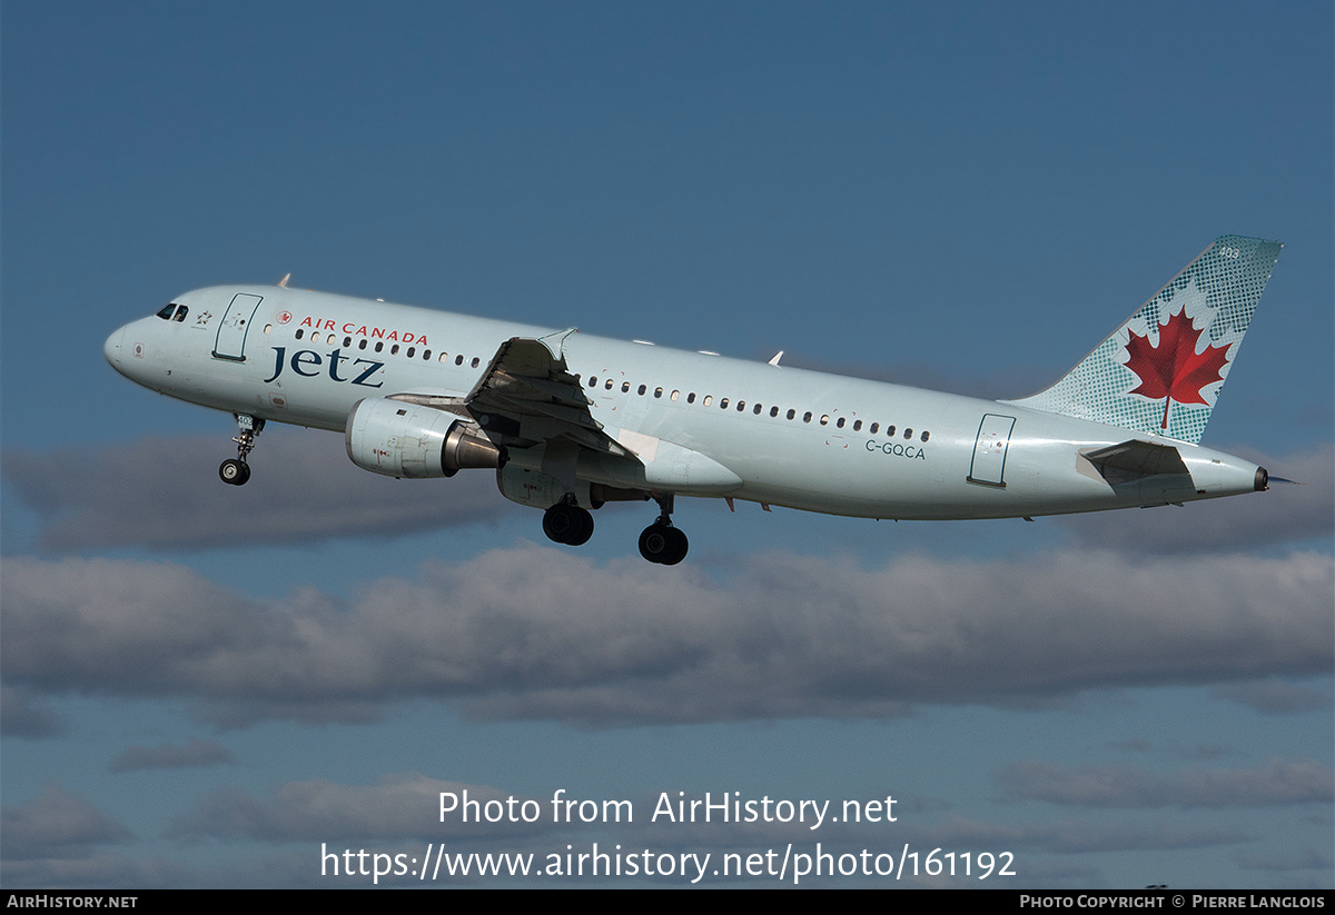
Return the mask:
[[[178,566],[11,558],[5,679],[194,698],[216,720],[366,720],[435,698],[483,719],[593,726],[889,716],[1080,690],[1330,670],[1330,556],[881,568],[789,555],[700,568],[521,544],[347,602],[256,602]]]

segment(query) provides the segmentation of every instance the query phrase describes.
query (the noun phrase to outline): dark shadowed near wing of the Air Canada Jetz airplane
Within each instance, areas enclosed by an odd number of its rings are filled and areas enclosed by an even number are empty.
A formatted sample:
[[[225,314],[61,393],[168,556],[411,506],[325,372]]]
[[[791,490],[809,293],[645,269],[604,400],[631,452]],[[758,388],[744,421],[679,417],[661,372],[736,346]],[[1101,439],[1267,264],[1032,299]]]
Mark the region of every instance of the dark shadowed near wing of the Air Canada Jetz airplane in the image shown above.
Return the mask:
[[[581,448],[627,456],[589,412],[590,400],[566,367],[561,344],[574,332],[570,328],[545,337],[510,337],[463,397],[398,393],[394,399],[473,419],[501,445],[529,448],[563,439]]]

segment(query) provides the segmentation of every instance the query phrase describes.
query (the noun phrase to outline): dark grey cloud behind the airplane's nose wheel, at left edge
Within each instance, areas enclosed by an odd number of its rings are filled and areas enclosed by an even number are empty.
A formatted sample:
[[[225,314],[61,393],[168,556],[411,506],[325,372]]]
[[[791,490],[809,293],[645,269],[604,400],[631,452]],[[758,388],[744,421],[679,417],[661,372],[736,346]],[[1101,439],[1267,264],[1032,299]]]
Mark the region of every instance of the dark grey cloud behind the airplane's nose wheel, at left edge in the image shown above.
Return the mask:
[[[11,451],[5,482],[57,551],[170,550],[386,536],[494,520],[511,508],[490,472],[395,480],[358,468],[336,435],[278,427],[259,436],[243,487],[218,479],[235,456],[216,439],[146,439],[55,453]]]

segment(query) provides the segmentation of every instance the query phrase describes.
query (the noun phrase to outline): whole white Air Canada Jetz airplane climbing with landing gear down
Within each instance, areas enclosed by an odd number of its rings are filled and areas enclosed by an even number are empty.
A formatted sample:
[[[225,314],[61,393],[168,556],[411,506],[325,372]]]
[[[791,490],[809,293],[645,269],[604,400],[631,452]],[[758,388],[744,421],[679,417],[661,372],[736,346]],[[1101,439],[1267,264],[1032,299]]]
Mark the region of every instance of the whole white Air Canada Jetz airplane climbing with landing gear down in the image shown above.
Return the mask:
[[[917,389],[278,285],[186,292],[105,343],[112,367],[232,413],[232,486],[268,421],[343,432],[394,478],[491,470],[559,544],[591,510],[653,500],[651,563],[688,552],[676,496],[874,519],[1181,504],[1270,476],[1199,445],[1282,244],[1222,236],[1051,387]],[[1278,478],[1276,478],[1278,479]]]

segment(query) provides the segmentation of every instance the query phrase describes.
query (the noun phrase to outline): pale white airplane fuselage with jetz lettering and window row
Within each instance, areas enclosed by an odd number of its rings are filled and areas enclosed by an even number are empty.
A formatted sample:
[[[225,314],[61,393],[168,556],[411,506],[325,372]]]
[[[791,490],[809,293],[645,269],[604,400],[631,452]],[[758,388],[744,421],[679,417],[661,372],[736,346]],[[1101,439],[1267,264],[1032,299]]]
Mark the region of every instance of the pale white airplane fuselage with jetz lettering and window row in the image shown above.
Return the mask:
[[[211,287],[174,304],[183,320],[146,317],[112,335],[107,357],[117,371],[204,407],[340,432],[362,400],[463,399],[507,340],[559,337],[606,436],[646,464],[677,462],[641,480],[646,491],[971,519],[1264,488],[1256,464],[1167,437],[1187,474],[1109,479],[1085,455],[1156,436],[1015,403],[280,287]],[[545,451],[511,447],[507,463],[542,471]],[[597,452],[578,455],[577,474],[635,487],[625,460]]]

